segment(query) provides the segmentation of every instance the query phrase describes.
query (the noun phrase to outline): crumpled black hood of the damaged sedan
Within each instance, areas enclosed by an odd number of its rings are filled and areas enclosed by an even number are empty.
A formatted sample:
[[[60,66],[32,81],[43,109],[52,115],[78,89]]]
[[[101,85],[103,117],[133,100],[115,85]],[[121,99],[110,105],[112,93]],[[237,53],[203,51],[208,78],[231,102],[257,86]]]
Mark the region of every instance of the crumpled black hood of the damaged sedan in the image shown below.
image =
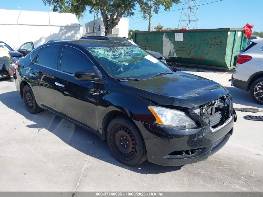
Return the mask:
[[[140,81],[120,82],[120,85],[124,90],[159,105],[187,108],[203,105],[228,93],[219,83],[181,71]]]

